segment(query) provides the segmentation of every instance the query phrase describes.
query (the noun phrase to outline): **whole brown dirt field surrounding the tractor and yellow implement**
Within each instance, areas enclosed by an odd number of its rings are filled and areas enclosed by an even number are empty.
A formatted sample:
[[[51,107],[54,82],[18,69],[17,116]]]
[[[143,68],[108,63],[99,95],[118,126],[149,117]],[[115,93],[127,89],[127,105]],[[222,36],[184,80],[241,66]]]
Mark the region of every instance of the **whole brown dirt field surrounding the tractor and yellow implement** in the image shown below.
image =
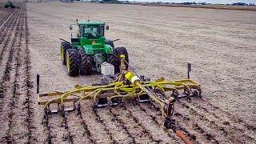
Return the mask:
[[[99,82],[70,78],[58,38],[69,39],[75,18],[102,20],[106,38],[120,38],[130,65],[146,77],[192,78],[203,98],[175,104],[177,126],[194,143],[256,143],[256,14],[253,11],[89,3],[26,3],[0,9],[0,143],[182,143],[163,126],[156,103],[92,109],[43,118],[41,93]],[[79,14],[78,14],[79,13]]]

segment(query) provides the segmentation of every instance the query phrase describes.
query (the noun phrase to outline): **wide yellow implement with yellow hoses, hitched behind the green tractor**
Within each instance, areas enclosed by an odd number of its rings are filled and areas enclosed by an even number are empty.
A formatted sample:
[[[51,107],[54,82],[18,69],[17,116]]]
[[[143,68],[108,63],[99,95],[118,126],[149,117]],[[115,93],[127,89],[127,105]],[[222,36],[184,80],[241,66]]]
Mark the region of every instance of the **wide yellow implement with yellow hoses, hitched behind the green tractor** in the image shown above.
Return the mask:
[[[122,57],[121,57],[122,58]],[[169,118],[173,113],[173,103],[178,98],[201,97],[202,90],[197,82],[191,79],[166,81],[159,78],[145,82],[136,74],[126,70],[125,58],[121,62],[121,74],[113,82],[100,86],[75,86],[74,90],[39,94],[38,104],[45,106],[46,114],[58,111],[80,110],[80,102],[90,100],[95,107],[115,106],[126,100],[138,102],[157,102],[162,116]],[[170,93],[168,93],[170,92]],[[73,106],[64,109],[64,104],[73,102]],[[50,110],[50,104],[56,103],[57,110]],[[77,106],[76,106],[77,105]],[[59,106],[62,106],[60,108]]]

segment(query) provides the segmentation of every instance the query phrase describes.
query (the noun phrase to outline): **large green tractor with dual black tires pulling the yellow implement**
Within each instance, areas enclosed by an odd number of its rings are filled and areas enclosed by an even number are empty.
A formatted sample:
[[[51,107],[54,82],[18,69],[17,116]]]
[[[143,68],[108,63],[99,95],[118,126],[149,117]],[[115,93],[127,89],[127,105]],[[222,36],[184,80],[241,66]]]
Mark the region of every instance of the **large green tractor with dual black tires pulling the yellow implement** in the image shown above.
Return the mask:
[[[103,62],[114,66],[114,72],[120,72],[121,54],[126,56],[126,69],[128,68],[128,52],[125,47],[114,47],[114,41],[107,40],[104,36],[109,26],[105,22],[90,20],[70,25],[78,26],[78,33],[75,37],[71,34],[71,41],[61,39],[62,64],[66,65],[67,72],[71,77],[90,75],[94,72],[101,72]]]

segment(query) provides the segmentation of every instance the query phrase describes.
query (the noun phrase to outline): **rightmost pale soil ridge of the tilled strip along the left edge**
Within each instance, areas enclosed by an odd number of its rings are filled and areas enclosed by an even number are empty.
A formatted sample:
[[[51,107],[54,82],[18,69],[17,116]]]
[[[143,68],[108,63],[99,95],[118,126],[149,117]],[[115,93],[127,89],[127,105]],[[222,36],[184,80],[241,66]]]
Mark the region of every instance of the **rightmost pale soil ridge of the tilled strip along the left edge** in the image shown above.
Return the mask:
[[[17,83],[18,83],[18,97],[14,98],[14,118],[18,118],[18,121],[14,121],[14,142],[17,143],[29,143],[34,142],[31,141],[31,129],[33,128],[33,124],[31,122],[31,110],[30,110],[30,87],[32,86],[30,83],[30,59],[29,53],[27,50],[27,43],[26,43],[26,6],[22,6],[22,35],[20,41],[18,43],[18,76],[17,76]]]

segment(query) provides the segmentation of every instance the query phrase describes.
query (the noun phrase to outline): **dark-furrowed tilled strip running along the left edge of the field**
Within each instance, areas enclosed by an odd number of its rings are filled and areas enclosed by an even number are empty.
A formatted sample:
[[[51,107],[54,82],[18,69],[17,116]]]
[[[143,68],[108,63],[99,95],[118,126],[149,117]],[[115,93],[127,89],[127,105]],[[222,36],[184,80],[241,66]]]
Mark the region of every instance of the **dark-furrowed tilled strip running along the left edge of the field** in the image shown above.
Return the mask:
[[[29,143],[33,142],[33,123],[26,5],[13,13],[11,17],[6,14],[10,18],[1,33],[0,142]]]

